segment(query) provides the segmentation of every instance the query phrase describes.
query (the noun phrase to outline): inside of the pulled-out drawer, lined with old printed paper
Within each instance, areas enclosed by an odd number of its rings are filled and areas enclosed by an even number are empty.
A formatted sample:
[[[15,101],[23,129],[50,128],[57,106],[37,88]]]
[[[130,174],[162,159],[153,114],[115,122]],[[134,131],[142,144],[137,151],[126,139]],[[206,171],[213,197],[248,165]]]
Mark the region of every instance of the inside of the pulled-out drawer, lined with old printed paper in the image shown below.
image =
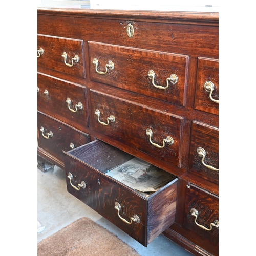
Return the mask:
[[[173,174],[96,140],[69,152],[86,165],[149,197],[177,181]]]

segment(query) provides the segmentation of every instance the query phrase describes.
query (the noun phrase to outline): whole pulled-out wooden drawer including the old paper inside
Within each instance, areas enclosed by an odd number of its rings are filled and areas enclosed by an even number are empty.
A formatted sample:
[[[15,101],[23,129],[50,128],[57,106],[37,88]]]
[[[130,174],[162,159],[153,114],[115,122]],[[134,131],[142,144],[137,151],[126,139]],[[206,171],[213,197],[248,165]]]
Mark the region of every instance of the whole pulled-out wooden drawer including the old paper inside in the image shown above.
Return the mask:
[[[142,245],[147,246],[174,223],[176,176],[140,162],[138,158],[100,140],[63,153],[68,192]],[[136,161],[142,165],[134,165]],[[150,166],[146,172],[142,170],[143,164]],[[137,170],[132,174],[125,171],[128,165],[130,170],[134,167]],[[140,175],[142,172],[144,174]],[[111,177],[115,173],[117,176]],[[123,176],[126,177],[124,180]],[[137,190],[147,185],[150,187],[154,182],[159,185],[159,177],[164,177],[161,185],[150,189],[156,191],[145,193]],[[127,185],[129,179],[131,185]]]

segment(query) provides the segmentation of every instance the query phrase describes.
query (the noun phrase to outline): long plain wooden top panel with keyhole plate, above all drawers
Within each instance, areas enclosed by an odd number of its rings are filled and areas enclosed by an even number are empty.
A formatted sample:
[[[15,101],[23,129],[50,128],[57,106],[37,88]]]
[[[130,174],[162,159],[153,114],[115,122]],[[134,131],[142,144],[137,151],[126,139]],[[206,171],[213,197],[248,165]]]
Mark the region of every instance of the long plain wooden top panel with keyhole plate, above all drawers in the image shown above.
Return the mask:
[[[99,16],[99,13],[94,16]],[[136,19],[140,17],[142,17],[141,13],[134,18],[128,14],[125,19],[115,15],[113,19],[104,17],[96,19],[91,18],[90,15],[80,18],[73,15],[70,22],[70,18],[66,15],[38,15],[38,33],[72,38],[77,38],[79,34],[80,37],[87,38],[84,41],[103,41],[108,44],[151,50],[161,49],[161,51],[192,57],[200,56],[202,52],[204,56],[217,57],[219,54],[218,26],[188,24],[185,20],[183,20],[185,24],[177,24],[177,20],[172,22],[171,16],[168,21],[166,19],[163,22],[153,22],[150,17],[147,17],[150,22],[137,21]],[[126,32],[127,25],[130,23],[134,27],[132,38]],[[65,29],[56,31],[56,24],[61,24]],[[77,31],[78,28],[79,31]]]

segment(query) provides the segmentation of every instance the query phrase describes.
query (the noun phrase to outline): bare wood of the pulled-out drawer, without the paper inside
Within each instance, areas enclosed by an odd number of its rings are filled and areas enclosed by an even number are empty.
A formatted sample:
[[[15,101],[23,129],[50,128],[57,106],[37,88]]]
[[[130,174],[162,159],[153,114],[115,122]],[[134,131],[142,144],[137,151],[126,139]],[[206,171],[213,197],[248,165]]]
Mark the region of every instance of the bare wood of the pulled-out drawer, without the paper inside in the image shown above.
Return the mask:
[[[97,161],[92,161],[88,152]],[[82,181],[87,184],[86,188],[77,191],[67,179],[67,188],[73,196],[147,246],[175,221],[177,179],[147,198],[104,174],[113,165],[131,158],[133,156],[99,140],[67,152],[65,153],[66,176],[69,172],[72,173],[74,176],[72,184],[75,186]],[[130,217],[136,214],[140,218],[140,223],[123,222],[117,215],[115,202],[122,207],[120,211],[122,218],[130,221]]]

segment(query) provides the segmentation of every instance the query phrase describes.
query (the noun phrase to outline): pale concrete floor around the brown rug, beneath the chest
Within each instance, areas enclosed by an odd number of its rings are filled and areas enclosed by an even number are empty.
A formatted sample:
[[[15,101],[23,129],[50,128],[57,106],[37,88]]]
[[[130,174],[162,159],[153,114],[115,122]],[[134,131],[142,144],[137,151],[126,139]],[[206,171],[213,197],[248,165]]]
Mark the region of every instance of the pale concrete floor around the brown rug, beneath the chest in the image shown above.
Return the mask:
[[[72,196],[67,191],[63,169],[54,166],[47,172],[37,169],[37,220],[45,229],[37,234],[37,242],[51,236],[79,218],[87,217],[119,239],[133,247],[141,256],[190,256],[193,255],[160,234],[147,247],[129,237],[96,211]]]

